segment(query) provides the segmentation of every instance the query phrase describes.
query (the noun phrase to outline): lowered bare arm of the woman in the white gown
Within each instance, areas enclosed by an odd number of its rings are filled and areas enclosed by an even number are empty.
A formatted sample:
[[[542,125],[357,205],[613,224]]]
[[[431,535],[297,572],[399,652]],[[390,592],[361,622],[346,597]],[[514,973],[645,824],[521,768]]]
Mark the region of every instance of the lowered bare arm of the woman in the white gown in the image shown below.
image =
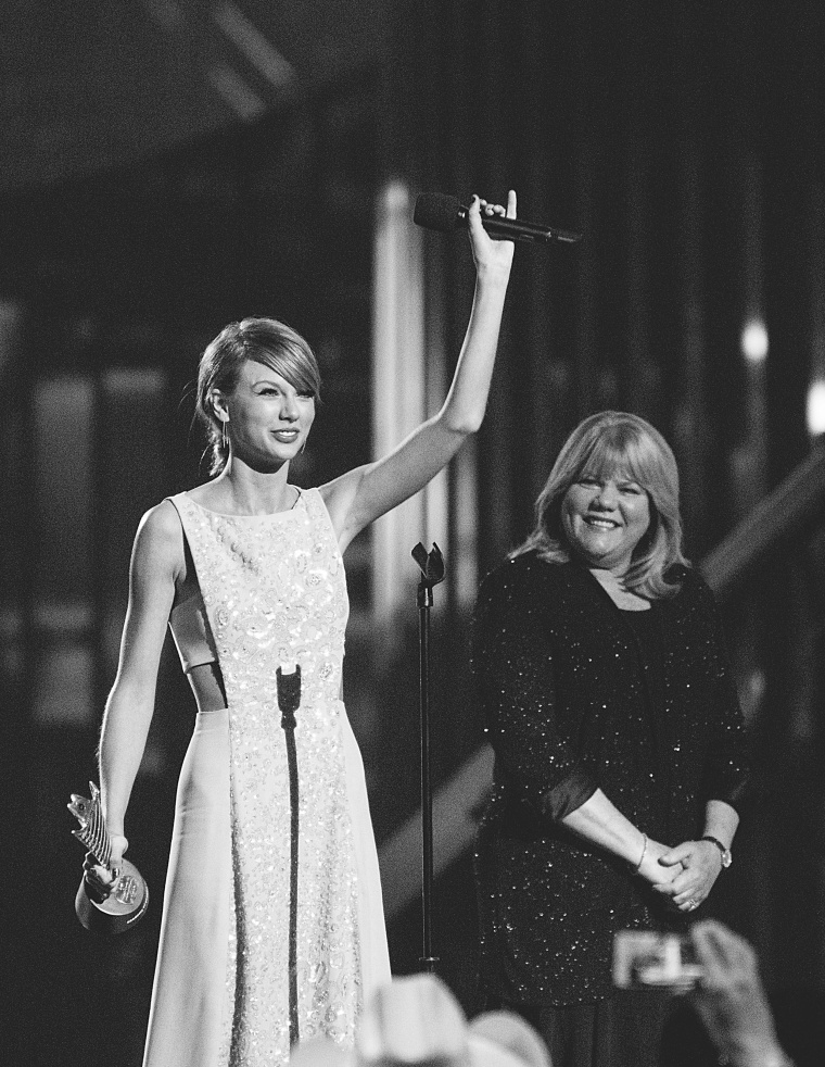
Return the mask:
[[[126,808],[152,719],[161,650],[182,567],[180,523],[164,502],[143,516],[135,538],[120,658],[100,738],[103,813],[115,862],[126,848]]]

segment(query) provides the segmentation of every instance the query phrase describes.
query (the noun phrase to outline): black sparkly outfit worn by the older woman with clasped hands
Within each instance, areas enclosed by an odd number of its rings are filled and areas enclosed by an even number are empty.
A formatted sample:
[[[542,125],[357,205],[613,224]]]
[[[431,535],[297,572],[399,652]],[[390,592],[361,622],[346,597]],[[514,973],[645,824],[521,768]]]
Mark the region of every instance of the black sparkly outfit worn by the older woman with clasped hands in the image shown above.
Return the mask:
[[[620,611],[591,573],[526,553],[483,582],[473,674],[495,750],[477,841],[481,986],[513,1005],[611,994],[617,930],[678,928],[627,865],[559,823],[600,788],[668,844],[734,807],[745,737],[710,590]]]

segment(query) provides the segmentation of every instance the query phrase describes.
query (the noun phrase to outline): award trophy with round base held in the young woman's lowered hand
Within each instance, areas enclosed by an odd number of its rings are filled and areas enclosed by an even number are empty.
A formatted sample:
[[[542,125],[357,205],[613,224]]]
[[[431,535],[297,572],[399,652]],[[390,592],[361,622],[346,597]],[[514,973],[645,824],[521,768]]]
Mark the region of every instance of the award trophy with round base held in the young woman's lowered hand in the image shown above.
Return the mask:
[[[128,859],[120,859],[116,867],[111,866],[112,850],[105,819],[100,809],[100,790],[91,781],[89,789],[91,800],[72,793],[72,800],[66,805],[80,824],[80,829],[73,830],[72,833],[101,867],[109,867],[115,881],[110,894],[98,899],[93,886],[86,880],[84,873],[75,897],[75,912],[87,930],[114,937],[143,918],[149,906],[149,887],[138,868]]]

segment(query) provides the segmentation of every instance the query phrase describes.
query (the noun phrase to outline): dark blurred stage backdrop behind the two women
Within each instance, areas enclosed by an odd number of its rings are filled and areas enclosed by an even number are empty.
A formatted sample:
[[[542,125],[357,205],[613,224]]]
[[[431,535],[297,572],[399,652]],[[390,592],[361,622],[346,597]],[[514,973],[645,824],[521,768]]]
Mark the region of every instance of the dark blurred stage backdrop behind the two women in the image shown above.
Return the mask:
[[[825,381],[821,4],[3,9],[8,1062],[140,1063],[193,715],[172,650],[128,830],[153,905],[116,945],[74,918],[81,852],[64,806],[96,774],[135,526],[205,476],[191,427],[198,355],[246,314],[285,319],[321,363],[325,405],[296,480],[326,481],[370,456],[377,204],[391,180],[465,201],[502,200],[512,186],[523,217],[585,234],[575,249],[517,249],[487,419],[449,474],[436,783],[481,742],[470,601],[456,575],[478,578],[525,536],[581,417],[638,412],[680,461],[688,553],[723,601],[757,757],[714,907],[757,945],[777,995],[821,999],[825,479],[823,427],[807,423]],[[428,234],[423,254],[428,336],[449,369],[471,259],[461,235]],[[761,362],[741,352],[753,319],[769,338]],[[420,536],[409,531],[410,547]],[[347,556],[347,707],[389,863],[418,795],[416,613],[412,601],[391,630],[376,619],[370,551],[367,537]],[[466,848],[454,853],[439,864],[436,952],[472,1012],[471,874]],[[414,882],[415,852],[407,863]],[[396,882],[388,876],[391,951],[409,971],[419,902],[395,900]]]

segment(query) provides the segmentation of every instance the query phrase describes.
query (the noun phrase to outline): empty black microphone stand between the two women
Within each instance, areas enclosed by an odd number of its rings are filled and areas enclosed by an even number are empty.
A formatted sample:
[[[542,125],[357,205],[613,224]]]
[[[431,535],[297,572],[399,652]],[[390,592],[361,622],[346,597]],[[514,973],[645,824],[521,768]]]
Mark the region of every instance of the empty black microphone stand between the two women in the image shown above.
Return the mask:
[[[418,583],[419,706],[421,716],[421,904],[423,920],[422,969],[435,972],[432,954],[432,788],[430,784],[430,608],[433,586],[444,581],[444,556],[433,542],[428,552],[419,541],[412,558],[421,570]]]

